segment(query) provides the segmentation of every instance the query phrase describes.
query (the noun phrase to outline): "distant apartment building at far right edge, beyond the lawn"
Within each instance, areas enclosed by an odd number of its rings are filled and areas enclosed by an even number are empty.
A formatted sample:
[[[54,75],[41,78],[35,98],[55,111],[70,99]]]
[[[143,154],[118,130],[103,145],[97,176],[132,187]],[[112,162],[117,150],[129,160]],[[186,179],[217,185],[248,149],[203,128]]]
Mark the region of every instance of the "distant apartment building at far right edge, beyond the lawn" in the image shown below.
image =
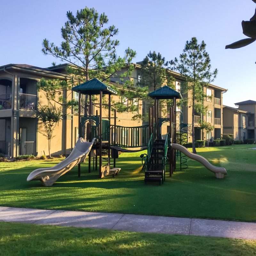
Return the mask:
[[[223,106],[223,134],[233,134],[235,140],[256,140],[256,101],[235,103],[238,108]]]

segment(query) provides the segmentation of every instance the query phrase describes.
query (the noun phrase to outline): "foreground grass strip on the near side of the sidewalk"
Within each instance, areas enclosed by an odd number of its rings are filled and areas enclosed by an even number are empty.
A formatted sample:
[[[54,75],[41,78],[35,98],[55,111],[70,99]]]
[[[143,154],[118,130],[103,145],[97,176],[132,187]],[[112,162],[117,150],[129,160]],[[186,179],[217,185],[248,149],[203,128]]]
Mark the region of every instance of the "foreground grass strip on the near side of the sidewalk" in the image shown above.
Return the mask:
[[[256,241],[1,223],[4,256],[255,255]]]

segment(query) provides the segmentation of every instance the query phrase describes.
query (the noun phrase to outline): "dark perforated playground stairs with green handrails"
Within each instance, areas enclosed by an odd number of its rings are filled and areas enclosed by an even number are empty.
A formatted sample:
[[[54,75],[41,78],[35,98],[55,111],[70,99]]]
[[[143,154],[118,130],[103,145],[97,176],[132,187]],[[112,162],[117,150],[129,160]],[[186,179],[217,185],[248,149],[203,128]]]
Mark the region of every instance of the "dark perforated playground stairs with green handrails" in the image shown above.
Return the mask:
[[[157,181],[161,185],[165,180],[165,164],[169,147],[169,133],[165,140],[154,140],[152,135],[148,143],[148,159],[146,159],[145,182]]]

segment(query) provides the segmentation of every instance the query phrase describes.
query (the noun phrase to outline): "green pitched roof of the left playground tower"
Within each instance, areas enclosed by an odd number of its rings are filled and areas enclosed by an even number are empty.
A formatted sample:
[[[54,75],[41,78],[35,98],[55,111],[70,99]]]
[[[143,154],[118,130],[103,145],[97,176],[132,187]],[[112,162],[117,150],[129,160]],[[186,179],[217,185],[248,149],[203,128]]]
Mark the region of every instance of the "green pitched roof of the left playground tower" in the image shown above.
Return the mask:
[[[102,83],[97,78],[93,78],[83,84],[79,84],[72,88],[75,92],[81,92],[84,94],[92,94],[97,95],[102,91],[103,94],[117,94],[115,90],[113,90],[108,85]]]

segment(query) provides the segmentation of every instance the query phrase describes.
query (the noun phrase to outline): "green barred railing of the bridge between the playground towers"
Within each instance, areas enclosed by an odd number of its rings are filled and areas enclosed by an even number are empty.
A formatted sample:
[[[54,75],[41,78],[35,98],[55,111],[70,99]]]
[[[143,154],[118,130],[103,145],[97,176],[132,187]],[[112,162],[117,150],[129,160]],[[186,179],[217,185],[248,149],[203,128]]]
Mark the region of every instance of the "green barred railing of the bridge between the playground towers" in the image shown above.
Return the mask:
[[[110,128],[112,145],[123,148],[146,147],[148,143],[148,125],[125,127],[112,125]]]

